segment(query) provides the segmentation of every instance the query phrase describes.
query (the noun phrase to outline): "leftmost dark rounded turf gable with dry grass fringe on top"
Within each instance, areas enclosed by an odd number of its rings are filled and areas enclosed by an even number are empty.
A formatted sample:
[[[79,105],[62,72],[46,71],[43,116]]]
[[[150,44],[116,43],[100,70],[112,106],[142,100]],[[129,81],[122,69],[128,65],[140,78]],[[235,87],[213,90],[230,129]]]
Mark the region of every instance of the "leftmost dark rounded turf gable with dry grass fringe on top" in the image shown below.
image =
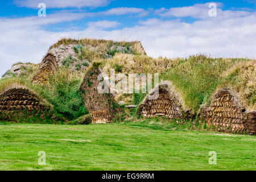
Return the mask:
[[[46,122],[54,120],[52,105],[21,78],[5,78],[0,82],[0,119],[15,122]]]

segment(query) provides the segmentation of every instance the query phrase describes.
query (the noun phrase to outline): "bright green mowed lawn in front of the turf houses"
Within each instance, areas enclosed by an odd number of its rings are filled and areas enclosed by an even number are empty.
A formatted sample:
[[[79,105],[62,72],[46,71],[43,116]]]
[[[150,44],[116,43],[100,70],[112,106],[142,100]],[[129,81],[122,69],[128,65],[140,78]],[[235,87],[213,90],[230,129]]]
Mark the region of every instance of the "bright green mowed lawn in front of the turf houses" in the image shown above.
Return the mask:
[[[150,124],[0,123],[0,170],[256,170],[256,138]],[[46,152],[46,165],[38,152]],[[217,164],[210,165],[209,151]]]

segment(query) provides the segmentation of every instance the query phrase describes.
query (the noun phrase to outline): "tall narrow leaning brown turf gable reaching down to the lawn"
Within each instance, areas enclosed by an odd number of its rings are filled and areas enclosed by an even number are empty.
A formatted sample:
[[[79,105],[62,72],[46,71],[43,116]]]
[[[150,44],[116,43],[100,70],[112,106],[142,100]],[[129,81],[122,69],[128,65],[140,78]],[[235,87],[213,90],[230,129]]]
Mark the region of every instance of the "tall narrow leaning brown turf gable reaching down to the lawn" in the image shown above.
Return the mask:
[[[101,81],[97,78],[100,74],[100,69],[96,67],[88,68],[80,86],[80,92],[84,98],[86,109],[92,115],[92,123],[109,123],[112,122],[113,115],[118,110],[118,104],[110,91],[109,93],[98,92],[97,87]]]

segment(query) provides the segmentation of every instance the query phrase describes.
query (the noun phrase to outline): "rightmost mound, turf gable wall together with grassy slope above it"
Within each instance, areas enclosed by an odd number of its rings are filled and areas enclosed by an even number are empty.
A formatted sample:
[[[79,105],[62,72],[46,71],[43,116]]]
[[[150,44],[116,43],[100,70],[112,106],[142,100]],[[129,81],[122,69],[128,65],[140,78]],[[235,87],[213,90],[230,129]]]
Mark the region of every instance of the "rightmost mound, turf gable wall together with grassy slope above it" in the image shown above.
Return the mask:
[[[234,65],[203,104],[200,118],[218,131],[256,133],[256,61]]]

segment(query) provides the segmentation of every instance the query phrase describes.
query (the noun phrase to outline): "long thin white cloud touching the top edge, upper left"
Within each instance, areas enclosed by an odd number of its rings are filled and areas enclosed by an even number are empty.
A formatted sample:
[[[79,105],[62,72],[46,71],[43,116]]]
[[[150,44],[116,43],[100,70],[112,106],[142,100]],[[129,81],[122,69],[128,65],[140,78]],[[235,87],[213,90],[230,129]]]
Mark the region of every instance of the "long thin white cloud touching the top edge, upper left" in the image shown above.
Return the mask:
[[[38,8],[39,3],[45,3],[47,8],[66,8],[66,7],[101,7],[106,6],[111,0],[14,0],[20,7]]]

